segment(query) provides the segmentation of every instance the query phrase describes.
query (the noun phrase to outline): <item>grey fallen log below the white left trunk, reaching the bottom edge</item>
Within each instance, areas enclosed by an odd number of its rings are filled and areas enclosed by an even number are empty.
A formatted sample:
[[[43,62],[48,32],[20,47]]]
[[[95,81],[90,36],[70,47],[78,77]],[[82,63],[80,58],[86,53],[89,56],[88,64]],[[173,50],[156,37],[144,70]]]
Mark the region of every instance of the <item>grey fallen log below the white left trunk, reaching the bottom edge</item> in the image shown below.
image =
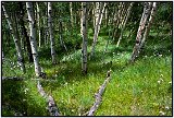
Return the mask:
[[[48,103],[47,109],[49,110],[50,116],[60,116],[60,113],[59,113],[58,107],[57,107],[57,105],[55,105],[55,103],[54,103],[54,99],[52,98],[51,95],[48,96],[48,95],[46,94],[46,92],[45,92],[44,88],[41,87],[41,84],[40,84],[39,81],[38,81],[38,83],[37,83],[37,88],[38,88],[40,95],[41,95],[42,97],[45,97],[46,101],[47,101],[47,103]]]

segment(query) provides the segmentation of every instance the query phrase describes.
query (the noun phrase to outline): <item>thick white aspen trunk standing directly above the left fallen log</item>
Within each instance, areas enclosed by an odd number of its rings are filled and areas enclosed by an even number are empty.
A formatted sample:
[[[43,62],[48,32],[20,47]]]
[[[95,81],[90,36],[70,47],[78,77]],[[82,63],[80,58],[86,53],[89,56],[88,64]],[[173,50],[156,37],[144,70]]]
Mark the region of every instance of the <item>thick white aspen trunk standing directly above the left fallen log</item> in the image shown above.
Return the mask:
[[[33,52],[33,58],[34,58],[35,73],[37,76],[39,76],[41,74],[41,69],[39,66],[39,57],[38,57],[38,52],[37,52],[35,20],[34,20],[34,12],[33,12],[32,2],[26,2],[26,10],[27,10],[27,14],[28,14],[29,28],[30,28],[30,47],[32,47],[32,52]]]

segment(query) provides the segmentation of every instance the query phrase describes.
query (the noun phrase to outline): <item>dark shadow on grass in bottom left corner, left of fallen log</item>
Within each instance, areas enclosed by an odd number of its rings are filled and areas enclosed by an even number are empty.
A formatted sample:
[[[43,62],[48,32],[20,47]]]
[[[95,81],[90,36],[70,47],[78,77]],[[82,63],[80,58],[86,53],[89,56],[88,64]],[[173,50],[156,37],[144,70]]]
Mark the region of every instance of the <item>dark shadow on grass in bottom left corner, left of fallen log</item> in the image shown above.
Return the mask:
[[[37,105],[37,102],[27,96],[26,92],[24,81],[2,81],[2,116],[46,115],[46,113],[42,113],[42,108]],[[28,99],[32,103],[28,103]]]

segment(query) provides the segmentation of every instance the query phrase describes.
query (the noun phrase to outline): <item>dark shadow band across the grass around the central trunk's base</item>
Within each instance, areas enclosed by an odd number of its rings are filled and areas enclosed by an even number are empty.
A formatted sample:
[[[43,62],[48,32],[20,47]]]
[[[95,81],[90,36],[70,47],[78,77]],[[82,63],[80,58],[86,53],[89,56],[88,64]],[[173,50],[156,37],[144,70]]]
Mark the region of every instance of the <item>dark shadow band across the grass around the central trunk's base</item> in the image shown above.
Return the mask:
[[[163,36],[164,37],[164,36]],[[140,55],[138,59],[144,58],[144,56],[154,56],[154,54],[158,55],[163,55],[163,56],[169,56],[172,52],[172,45],[169,44],[171,40],[165,39],[164,42],[161,42],[158,37],[156,39],[156,36],[149,36],[150,39],[148,40],[145,49],[140,51]],[[158,44],[154,44],[156,40],[158,40]],[[152,44],[149,44],[149,42],[153,42]],[[163,43],[166,43],[162,45]],[[160,45],[156,49],[149,48],[151,45]],[[113,52],[115,54],[123,54],[123,52],[128,52],[132,54],[133,49],[130,46],[128,47],[117,47],[114,45],[110,45],[111,47],[108,49],[108,52],[104,54],[104,57],[112,57]],[[103,57],[103,51],[98,51],[96,50],[94,59],[88,61],[88,73],[83,78],[84,75],[82,74],[82,61],[80,60],[67,60],[64,63],[59,63],[57,64],[55,68],[55,73],[58,76],[54,76],[55,80],[58,80],[55,83],[49,83],[51,88],[60,87],[61,84],[64,84],[65,82],[72,82],[72,81],[80,81],[82,79],[88,79],[89,75],[98,75],[103,74],[105,76],[105,73],[108,70],[112,69],[114,71],[123,71],[125,68],[128,68],[129,63],[128,59],[125,59],[125,62],[121,63],[111,63],[111,61],[107,62],[105,64],[102,63],[102,57]],[[124,54],[123,54],[124,55]],[[62,56],[63,57],[63,56]],[[112,60],[112,58],[110,59]],[[122,59],[121,59],[122,60]],[[126,62],[127,61],[127,62]],[[51,66],[50,68],[52,68]],[[57,69],[57,67],[59,67]],[[60,68],[62,67],[62,68]],[[46,83],[45,83],[46,85]]]

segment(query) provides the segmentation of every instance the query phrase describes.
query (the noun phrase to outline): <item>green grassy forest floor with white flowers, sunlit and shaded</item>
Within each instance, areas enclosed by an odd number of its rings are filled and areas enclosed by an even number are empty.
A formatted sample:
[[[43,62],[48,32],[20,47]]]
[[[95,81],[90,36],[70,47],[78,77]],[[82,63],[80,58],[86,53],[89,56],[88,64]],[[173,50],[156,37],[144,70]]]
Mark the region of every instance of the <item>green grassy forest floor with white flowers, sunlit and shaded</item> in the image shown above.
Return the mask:
[[[162,40],[166,35],[158,39],[156,36],[150,34],[151,42],[133,64],[127,61],[134,45],[125,48],[121,42],[116,48],[110,43],[103,58],[108,37],[99,36],[87,75],[80,71],[80,49],[58,56],[58,64],[51,64],[50,57],[42,55],[40,66],[47,73],[47,79],[41,80],[42,87],[53,96],[62,116],[84,116],[92,106],[107,71],[111,70],[111,81],[96,116],[172,116],[172,45],[165,45],[171,43],[171,37]],[[26,62],[27,72],[23,74],[15,61],[3,62],[2,75],[21,76],[24,81],[2,82],[2,115],[48,116],[46,101],[37,90],[34,64]]]

